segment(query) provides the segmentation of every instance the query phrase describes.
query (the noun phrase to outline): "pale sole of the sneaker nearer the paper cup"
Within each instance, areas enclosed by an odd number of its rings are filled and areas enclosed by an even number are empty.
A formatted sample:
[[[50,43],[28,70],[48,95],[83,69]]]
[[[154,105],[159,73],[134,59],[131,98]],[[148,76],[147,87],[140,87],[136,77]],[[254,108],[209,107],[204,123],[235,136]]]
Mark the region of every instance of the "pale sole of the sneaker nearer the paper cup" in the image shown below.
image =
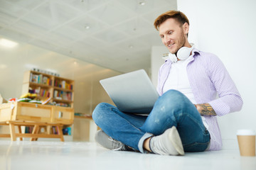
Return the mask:
[[[184,149],[181,142],[181,137],[178,135],[178,130],[173,126],[169,131],[169,140],[180,155],[184,155]]]

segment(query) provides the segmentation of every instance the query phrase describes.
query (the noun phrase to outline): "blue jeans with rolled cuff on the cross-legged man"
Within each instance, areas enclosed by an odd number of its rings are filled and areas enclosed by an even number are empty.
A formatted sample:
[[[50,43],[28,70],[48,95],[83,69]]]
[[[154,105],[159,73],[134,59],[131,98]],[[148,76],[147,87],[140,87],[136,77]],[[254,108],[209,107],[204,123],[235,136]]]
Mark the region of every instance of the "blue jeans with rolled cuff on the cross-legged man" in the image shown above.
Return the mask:
[[[161,135],[172,126],[176,126],[185,152],[205,151],[210,142],[200,113],[176,90],[160,96],[148,116],[122,113],[115,106],[100,103],[92,118],[107,135],[140,152],[144,152],[146,138]]]

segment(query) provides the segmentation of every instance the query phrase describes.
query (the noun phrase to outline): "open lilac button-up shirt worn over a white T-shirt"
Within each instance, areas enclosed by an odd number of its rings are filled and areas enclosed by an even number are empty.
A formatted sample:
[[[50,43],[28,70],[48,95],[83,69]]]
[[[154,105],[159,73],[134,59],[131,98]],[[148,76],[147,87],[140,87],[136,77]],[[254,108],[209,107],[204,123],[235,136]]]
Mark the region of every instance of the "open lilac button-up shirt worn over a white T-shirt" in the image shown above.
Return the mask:
[[[192,55],[193,59],[187,66],[187,74],[196,103],[209,103],[218,116],[240,111],[242,98],[220,59],[197,49],[192,51]],[[160,96],[163,94],[171,64],[171,60],[167,59],[159,69],[157,91]],[[222,140],[217,117],[205,116],[205,118],[210,132],[209,150],[221,149]]]

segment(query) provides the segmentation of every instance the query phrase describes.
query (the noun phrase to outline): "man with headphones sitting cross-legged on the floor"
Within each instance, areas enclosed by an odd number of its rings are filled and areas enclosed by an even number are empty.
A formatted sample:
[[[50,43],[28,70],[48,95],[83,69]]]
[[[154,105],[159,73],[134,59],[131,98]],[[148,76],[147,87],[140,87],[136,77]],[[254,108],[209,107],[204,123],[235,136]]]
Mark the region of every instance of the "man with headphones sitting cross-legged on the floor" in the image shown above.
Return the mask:
[[[218,57],[188,42],[189,21],[183,13],[163,13],[154,26],[169,49],[159,69],[160,97],[146,117],[100,103],[92,113],[102,128],[96,141],[108,149],[168,155],[220,149],[217,116],[240,111],[238,89]]]

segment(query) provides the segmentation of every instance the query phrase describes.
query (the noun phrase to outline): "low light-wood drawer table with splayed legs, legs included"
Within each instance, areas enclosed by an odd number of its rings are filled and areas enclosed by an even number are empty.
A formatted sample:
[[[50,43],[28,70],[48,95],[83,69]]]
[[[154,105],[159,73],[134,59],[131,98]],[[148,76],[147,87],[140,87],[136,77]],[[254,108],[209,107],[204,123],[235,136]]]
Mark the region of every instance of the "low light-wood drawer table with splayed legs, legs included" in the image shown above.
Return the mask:
[[[64,141],[62,128],[71,128],[73,120],[74,108],[17,101],[3,103],[0,105],[0,124],[9,125],[11,135],[0,136],[11,137],[12,141],[15,141],[16,137],[32,137],[31,140],[38,137],[60,138]],[[15,125],[18,125],[18,133],[15,132]],[[26,128],[21,130],[21,126],[33,128],[33,132],[26,133]],[[47,128],[47,133],[38,134],[40,128]],[[73,140],[72,134],[67,137]]]

